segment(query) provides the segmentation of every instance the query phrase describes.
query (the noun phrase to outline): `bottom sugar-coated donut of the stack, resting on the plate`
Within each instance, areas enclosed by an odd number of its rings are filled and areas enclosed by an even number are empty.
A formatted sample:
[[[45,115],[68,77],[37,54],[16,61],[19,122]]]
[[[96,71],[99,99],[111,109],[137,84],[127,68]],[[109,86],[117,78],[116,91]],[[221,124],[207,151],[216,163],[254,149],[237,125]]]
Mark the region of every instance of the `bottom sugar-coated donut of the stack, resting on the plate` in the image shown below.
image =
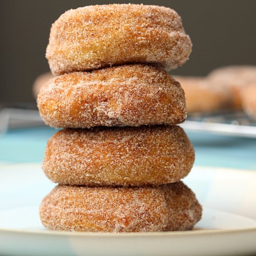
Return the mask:
[[[47,229],[86,232],[150,232],[192,229],[202,215],[182,182],[157,187],[56,186],[40,204]]]

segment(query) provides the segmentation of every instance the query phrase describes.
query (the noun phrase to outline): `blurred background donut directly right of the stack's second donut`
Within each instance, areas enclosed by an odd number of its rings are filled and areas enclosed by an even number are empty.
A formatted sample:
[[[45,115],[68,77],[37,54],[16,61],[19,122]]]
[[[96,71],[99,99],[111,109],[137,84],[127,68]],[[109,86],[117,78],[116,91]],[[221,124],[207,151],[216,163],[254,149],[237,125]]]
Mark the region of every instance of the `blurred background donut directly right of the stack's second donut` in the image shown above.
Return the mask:
[[[204,77],[174,76],[185,92],[187,112],[211,113],[231,107],[229,90]]]

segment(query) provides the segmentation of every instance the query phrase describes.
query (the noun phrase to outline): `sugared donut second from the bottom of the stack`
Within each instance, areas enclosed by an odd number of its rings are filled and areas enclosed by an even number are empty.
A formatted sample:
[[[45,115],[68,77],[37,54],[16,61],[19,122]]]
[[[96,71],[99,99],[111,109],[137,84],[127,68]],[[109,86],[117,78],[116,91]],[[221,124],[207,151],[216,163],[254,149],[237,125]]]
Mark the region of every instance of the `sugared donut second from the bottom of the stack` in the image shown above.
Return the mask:
[[[66,129],[47,143],[43,170],[53,182],[142,186],[177,182],[195,159],[178,126]]]

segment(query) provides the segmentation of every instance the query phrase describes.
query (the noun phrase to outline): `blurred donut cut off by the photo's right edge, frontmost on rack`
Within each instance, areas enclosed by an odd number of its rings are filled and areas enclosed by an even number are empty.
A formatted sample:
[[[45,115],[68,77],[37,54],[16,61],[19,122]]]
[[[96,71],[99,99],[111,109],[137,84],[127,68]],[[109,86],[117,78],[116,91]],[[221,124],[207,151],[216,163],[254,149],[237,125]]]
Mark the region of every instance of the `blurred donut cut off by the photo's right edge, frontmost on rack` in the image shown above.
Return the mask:
[[[243,88],[242,106],[244,112],[256,120],[256,82]]]

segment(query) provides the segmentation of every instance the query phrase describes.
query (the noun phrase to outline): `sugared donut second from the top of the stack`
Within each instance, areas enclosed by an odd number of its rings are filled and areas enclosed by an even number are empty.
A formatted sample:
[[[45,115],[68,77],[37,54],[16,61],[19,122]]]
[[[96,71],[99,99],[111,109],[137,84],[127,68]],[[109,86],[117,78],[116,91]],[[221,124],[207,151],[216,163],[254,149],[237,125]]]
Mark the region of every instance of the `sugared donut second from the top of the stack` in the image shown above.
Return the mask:
[[[186,118],[180,84],[140,64],[55,77],[37,102],[45,123],[60,128],[179,124]]]

